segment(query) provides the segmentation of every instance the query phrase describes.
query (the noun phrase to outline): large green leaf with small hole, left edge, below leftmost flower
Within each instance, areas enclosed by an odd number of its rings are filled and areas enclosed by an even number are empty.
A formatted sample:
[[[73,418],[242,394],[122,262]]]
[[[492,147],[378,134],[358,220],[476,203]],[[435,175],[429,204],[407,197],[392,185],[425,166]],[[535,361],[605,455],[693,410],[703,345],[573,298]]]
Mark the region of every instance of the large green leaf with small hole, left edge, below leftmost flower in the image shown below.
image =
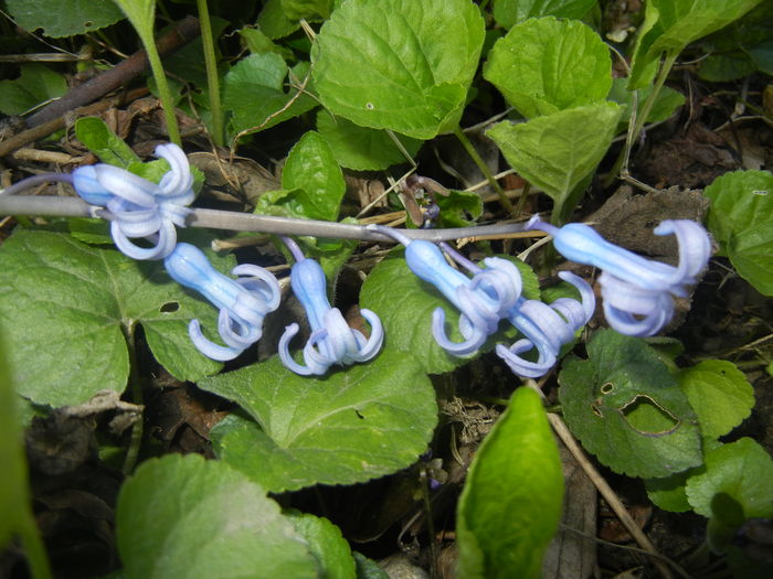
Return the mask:
[[[213,259],[223,268],[232,259]],[[19,230],[0,246],[0,319],[19,393],[53,407],[123,392],[129,372],[124,332],[140,323],[156,358],[180,379],[221,365],[193,346],[188,322],[216,329],[216,311],[167,276],[67,235]]]

